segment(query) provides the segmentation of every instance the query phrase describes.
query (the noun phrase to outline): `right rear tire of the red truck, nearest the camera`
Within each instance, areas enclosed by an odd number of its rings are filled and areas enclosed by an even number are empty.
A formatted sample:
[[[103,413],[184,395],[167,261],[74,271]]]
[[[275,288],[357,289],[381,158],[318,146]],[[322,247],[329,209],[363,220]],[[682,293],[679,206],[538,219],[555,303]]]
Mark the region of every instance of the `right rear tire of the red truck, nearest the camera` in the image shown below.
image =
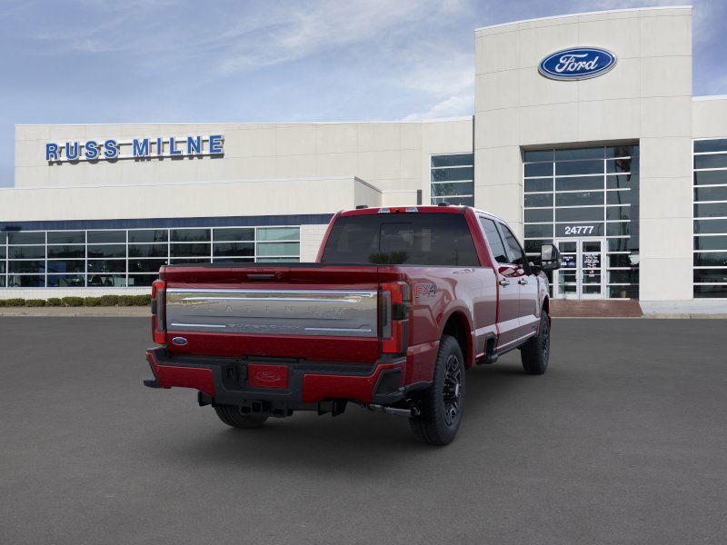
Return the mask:
[[[462,422],[464,358],[459,342],[443,335],[434,364],[432,385],[422,392],[419,416],[409,419],[417,439],[430,445],[451,443]]]

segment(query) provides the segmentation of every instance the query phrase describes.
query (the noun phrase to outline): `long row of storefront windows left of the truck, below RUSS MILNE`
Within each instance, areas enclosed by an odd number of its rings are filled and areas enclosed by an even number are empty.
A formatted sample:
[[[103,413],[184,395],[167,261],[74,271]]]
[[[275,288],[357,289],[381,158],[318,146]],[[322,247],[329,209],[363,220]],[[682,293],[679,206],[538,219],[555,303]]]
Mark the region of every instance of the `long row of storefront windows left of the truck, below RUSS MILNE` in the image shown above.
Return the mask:
[[[299,241],[297,226],[3,232],[0,286],[149,286],[165,263],[211,263],[211,252],[215,263],[297,262]]]

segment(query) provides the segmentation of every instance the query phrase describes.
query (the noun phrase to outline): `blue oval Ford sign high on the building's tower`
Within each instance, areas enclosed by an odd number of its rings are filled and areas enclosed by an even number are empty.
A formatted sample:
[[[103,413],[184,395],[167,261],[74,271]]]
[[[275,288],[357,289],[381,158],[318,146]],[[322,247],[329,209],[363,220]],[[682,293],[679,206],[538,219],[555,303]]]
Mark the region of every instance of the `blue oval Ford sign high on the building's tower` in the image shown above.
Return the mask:
[[[616,55],[599,47],[573,47],[546,56],[538,72],[555,80],[582,80],[605,74],[616,65]]]

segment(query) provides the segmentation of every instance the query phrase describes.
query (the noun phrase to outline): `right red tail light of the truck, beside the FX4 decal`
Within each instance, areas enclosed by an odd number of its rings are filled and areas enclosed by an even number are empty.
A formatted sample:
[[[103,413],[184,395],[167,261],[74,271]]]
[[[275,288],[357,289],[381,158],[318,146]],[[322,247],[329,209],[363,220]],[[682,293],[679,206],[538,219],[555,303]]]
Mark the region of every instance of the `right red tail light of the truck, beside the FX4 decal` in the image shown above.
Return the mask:
[[[405,353],[409,346],[409,284],[383,282],[379,300],[381,352]]]

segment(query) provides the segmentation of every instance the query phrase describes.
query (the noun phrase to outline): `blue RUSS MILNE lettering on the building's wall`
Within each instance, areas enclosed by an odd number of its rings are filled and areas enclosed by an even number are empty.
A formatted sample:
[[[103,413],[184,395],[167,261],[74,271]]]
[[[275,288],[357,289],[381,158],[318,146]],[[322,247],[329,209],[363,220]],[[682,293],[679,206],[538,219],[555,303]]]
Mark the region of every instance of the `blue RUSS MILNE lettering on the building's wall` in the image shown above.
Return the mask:
[[[49,163],[76,163],[79,161],[113,161],[115,159],[151,159],[163,157],[201,157],[223,155],[224,136],[184,136],[176,138],[134,138],[117,141],[65,142],[45,144],[45,161]]]

